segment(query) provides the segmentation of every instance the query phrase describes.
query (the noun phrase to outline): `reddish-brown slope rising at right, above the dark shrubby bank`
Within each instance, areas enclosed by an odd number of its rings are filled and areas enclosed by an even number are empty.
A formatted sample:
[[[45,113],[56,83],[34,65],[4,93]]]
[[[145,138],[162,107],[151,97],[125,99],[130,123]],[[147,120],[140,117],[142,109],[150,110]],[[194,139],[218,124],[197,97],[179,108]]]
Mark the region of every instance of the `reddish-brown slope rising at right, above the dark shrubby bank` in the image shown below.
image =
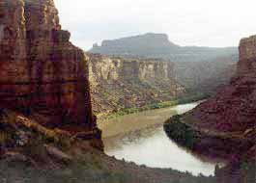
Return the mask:
[[[194,125],[223,132],[256,128],[256,37],[242,39],[240,61],[230,85],[186,115]],[[255,134],[254,134],[255,135]]]

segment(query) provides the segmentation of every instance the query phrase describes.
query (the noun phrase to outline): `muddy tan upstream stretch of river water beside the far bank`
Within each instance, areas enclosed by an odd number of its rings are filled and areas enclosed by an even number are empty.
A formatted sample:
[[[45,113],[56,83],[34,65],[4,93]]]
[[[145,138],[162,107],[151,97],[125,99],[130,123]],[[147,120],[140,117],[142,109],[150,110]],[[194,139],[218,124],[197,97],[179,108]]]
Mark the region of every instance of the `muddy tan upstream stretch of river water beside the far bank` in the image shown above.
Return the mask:
[[[177,105],[162,109],[142,111],[117,118],[99,118],[98,126],[102,131],[102,138],[114,137],[119,134],[128,134],[132,131],[152,126],[162,126],[163,122],[177,114],[185,113],[197,106],[199,102]]]

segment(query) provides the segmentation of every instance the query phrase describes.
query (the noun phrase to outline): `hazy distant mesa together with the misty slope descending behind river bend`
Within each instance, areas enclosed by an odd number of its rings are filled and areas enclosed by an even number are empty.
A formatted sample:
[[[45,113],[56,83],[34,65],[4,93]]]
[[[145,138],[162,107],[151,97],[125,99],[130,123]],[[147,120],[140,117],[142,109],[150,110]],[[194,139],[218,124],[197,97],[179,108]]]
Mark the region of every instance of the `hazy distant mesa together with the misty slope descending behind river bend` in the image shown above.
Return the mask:
[[[157,58],[174,63],[176,80],[191,93],[213,94],[235,74],[238,49],[179,46],[164,34],[145,34],[115,40],[103,40],[89,51],[128,59]]]

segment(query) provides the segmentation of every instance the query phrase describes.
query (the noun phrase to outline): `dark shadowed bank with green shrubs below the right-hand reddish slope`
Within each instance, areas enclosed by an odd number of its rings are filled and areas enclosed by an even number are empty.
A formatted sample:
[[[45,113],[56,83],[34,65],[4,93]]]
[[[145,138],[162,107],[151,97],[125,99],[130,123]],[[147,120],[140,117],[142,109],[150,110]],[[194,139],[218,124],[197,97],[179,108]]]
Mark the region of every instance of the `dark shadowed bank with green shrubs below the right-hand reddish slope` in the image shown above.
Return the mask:
[[[197,128],[184,116],[169,118],[164,123],[167,136],[185,148],[199,154],[225,158],[228,164],[215,167],[218,183],[254,183],[256,170],[256,129],[227,133]]]

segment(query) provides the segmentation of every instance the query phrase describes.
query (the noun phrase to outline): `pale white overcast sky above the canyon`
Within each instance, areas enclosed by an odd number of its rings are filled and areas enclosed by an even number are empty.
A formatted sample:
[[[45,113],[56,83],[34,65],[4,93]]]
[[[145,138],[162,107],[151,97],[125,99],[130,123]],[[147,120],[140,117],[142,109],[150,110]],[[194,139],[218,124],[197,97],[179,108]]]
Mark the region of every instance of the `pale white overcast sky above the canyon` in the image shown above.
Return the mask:
[[[179,45],[238,46],[256,35],[255,0],[55,0],[63,29],[84,50],[103,39],[165,33]]]

